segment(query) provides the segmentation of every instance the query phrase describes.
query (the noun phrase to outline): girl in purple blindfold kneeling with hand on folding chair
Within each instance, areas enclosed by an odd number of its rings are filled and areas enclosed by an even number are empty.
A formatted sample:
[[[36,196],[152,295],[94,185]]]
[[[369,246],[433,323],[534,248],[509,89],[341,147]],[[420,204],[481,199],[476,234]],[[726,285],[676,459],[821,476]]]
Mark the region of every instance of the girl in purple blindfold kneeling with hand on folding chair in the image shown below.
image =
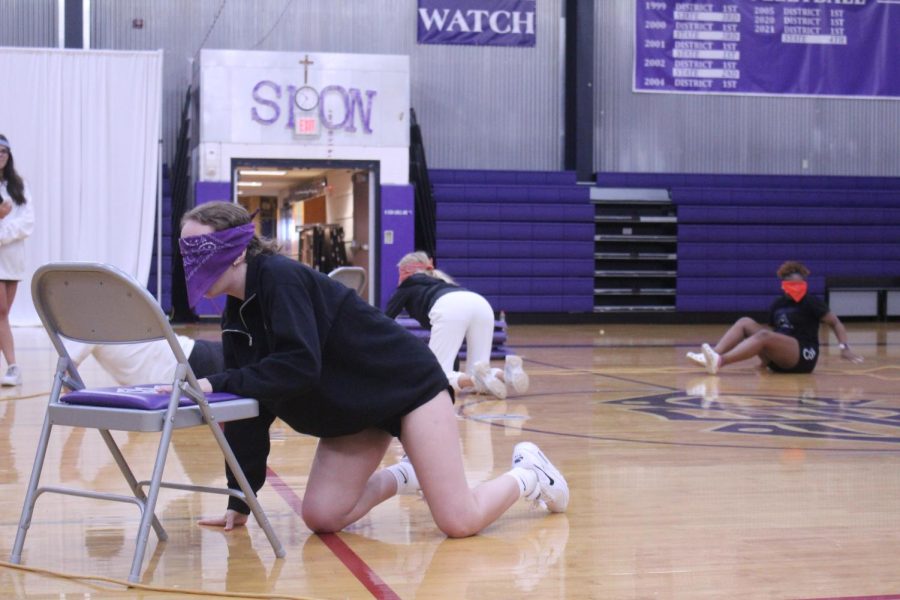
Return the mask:
[[[182,219],[180,245],[190,303],[228,295],[226,370],[200,385],[259,400],[258,417],[225,424],[254,491],[265,481],[269,426],[279,417],[319,438],[301,511],[315,532],[339,531],[419,489],[451,537],[481,531],[523,497],[566,510],[566,480],[530,442],[515,446],[509,471],[470,489],[447,377],[431,351],[353,290],[278,254],[241,206],[194,208]],[[379,469],[393,437],[406,458]],[[228,483],[237,488],[231,473]],[[231,529],[248,513],[230,498],[224,517],[201,524]]]

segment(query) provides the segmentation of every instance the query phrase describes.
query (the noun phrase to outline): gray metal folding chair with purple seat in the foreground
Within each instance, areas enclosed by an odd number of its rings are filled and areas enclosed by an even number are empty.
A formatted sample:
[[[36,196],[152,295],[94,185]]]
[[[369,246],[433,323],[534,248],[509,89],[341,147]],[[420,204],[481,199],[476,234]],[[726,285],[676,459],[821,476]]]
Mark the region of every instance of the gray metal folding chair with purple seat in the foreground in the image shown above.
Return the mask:
[[[219,428],[219,423],[258,415],[259,405],[256,400],[231,394],[203,394],[175,332],[156,300],[133,278],[115,267],[98,263],[44,265],[34,274],[31,293],[59,359],[11,562],[21,561],[34,505],[44,492],[129,502],[136,504],[141,511],[134,559],[128,577],[129,581],[136,582],[140,577],[150,527],[153,527],[161,541],[167,539],[166,531],[155,514],[156,500],[163,487],[239,497],[247,503],[265,531],[275,555],[283,557],[285,553],[281,542]],[[62,338],[90,344],[146,343],[164,339],[168,341],[177,360],[175,378],[167,382],[147,382],[150,384],[147,387],[85,388]],[[161,383],[172,384],[171,394],[155,392],[152,384]],[[71,391],[66,393],[65,389]],[[132,495],[50,485],[39,487],[50,432],[54,425],[99,430]],[[240,491],[162,481],[173,430],[196,426],[204,426],[212,433],[240,485]],[[159,434],[159,449],[149,481],[136,479],[110,431]]]

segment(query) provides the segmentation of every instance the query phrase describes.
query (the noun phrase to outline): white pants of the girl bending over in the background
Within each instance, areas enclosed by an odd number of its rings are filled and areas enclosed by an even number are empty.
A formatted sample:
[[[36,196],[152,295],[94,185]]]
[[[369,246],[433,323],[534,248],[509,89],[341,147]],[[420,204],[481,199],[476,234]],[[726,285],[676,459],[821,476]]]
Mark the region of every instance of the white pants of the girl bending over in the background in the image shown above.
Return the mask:
[[[494,309],[475,292],[444,294],[428,313],[431,340],[428,347],[441,363],[441,368],[458,390],[462,373],[453,370],[463,340],[466,341],[466,373],[471,375],[479,362],[490,363],[494,343]]]

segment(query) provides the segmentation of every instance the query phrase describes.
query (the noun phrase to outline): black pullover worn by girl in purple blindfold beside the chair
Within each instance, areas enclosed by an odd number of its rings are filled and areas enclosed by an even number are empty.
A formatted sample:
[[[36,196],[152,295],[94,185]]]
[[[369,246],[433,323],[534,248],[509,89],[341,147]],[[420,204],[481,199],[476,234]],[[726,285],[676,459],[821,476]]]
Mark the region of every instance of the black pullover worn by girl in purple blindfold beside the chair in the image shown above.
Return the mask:
[[[251,258],[244,297],[228,297],[222,315],[227,370],[208,379],[214,391],[260,402],[258,417],[225,426],[254,490],[265,481],[274,417],[316,437],[368,428],[399,435],[401,417],[448,387],[418,338],[297,261]],[[237,488],[228,475],[229,487]],[[234,498],[229,508],[249,512]]]

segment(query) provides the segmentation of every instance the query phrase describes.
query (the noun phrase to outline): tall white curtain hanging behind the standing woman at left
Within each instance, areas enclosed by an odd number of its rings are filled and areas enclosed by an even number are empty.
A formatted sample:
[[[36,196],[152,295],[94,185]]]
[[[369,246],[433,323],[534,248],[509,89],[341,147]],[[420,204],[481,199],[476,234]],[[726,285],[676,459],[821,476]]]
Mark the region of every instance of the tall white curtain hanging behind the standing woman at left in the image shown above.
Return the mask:
[[[0,133],[34,203],[10,320],[39,325],[44,263],[113,264],[145,283],[156,219],[162,51],[0,48]]]

